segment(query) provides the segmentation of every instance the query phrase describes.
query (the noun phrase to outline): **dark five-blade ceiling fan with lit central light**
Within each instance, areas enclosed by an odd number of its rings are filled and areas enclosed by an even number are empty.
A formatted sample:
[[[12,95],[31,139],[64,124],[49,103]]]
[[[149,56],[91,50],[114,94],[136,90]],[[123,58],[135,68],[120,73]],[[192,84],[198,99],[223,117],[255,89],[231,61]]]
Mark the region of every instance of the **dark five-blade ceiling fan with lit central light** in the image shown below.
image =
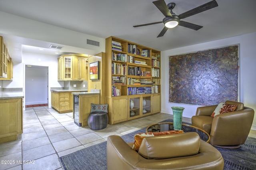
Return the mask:
[[[146,24],[142,24],[142,25],[134,25],[133,27],[141,27],[141,26],[146,26],[146,25],[153,25],[156,23],[164,23],[165,27],[164,27],[164,29],[162,29],[162,31],[160,32],[160,34],[157,37],[162,37],[166,33],[168,28],[173,28],[173,27],[176,27],[177,25],[187,27],[190,29],[194,29],[194,30],[198,30],[198,29],[202,28],[202,26],[200,26],[200,25],[196,25],[194,23],[189,23],[186,21],[181,21],[181,19],[198,14],[200,12],[204,12],[206,10],[210,10],[210,9],[218,6],[216,0],[212,0],[206,4],[198,6],[192,10],[189,10],[189,11],[184,12],[183,14],[180,14],[177,16],[176,14],[174,14],[174,12],[172,12],[173,8],[176,5],[175,3],[169,3],[166,5],[164,0],[156,0],[153,3],[164,14],[165,18],[163,19],[163,21],[146,23]]]

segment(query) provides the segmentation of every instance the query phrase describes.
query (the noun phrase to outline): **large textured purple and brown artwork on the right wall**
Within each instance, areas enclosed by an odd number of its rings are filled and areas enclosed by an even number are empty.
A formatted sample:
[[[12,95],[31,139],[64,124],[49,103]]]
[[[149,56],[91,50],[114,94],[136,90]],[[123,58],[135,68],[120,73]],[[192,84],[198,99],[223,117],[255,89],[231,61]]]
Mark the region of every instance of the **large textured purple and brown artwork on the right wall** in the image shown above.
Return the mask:
[[[169,102],[216,105],[238,98],[238,45],[169,57]]]

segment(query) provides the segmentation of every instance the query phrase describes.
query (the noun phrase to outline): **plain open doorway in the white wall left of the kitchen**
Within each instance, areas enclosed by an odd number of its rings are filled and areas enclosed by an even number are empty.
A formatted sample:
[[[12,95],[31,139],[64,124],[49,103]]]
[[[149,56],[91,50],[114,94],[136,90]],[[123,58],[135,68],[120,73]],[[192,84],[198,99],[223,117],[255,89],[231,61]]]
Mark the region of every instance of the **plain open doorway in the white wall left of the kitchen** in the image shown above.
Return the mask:
[[[48,106],[48,66],[25,65],[25,106]]]

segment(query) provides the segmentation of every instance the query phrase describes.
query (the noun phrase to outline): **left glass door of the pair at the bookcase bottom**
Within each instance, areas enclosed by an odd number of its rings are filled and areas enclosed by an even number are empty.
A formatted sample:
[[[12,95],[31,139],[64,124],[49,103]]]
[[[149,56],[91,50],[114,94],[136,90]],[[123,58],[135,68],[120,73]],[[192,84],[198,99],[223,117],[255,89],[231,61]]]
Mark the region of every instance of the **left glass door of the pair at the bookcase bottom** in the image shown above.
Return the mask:
[[[140,117],[140,97],[129,98],[129,119]]]

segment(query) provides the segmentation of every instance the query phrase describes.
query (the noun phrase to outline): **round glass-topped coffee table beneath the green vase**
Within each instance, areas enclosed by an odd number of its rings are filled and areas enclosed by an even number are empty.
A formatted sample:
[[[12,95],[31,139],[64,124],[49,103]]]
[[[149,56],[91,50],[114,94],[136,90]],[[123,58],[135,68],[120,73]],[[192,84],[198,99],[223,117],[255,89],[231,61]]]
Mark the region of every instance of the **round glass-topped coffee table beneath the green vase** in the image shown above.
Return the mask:
[[[163,132],[172,130],[174,130],[173,122],[156,123],[148,126],[147,128],[147,132]],[[210,141],[210,135],[206,131],[198,127],[182,123],[181,130],[183,130],[184,132],[196,132],[200,136],[200,139],[202,139],[203,141],[206,141],[207,143],[209,143]]]

